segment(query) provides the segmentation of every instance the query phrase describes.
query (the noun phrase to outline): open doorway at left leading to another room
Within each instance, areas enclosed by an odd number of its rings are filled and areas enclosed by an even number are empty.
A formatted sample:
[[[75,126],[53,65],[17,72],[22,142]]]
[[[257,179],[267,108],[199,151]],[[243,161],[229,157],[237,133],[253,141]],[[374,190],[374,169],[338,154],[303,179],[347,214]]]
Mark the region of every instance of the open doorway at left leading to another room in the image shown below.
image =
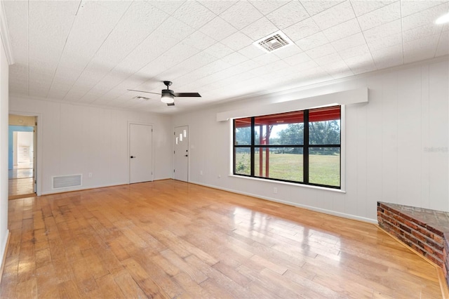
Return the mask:
[[[36,196],[36,117],[9,115],[8,199]]]

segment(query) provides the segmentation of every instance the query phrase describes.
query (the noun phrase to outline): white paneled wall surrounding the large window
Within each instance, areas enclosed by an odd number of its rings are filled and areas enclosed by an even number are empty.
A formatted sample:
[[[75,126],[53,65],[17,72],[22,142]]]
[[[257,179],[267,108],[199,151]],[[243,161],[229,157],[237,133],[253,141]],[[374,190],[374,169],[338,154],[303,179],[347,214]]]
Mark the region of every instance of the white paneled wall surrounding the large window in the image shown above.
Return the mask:
[[[189,181],[372,222],[377,201],[449,211],[448,74],[445,57],[292,93],[369,88],[368,104],[346,106],[345,193],[228,175],[231,132],[216,114],[279,102],[275,95],[174,117],[173,126],[189,126]]]

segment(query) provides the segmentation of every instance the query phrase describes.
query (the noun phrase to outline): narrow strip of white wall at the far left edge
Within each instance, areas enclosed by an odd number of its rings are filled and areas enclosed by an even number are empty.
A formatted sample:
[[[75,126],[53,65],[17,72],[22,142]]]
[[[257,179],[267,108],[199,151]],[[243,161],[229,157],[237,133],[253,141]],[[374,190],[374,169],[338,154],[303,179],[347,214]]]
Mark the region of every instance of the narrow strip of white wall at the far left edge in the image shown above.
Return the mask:
[[[3,38],[2,38],[3,40]],[[8,60],[0,45],[0,263],[8,241]]]

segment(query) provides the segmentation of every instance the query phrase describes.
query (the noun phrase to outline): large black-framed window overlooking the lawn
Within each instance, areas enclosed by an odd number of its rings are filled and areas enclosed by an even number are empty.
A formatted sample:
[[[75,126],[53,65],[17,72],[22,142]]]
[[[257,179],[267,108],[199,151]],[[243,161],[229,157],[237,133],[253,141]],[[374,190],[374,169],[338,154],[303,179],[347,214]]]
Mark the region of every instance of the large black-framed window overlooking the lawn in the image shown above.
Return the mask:
[[[234,119],[234,174],[340,189],[341,107]]]

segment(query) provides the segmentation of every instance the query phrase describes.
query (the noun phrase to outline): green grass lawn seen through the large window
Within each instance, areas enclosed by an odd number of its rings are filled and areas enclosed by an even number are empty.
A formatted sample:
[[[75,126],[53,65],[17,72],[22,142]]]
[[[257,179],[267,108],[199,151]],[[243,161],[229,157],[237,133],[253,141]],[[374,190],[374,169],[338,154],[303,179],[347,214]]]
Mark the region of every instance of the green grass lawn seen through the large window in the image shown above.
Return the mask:
[[[260,156],[255,156],[255,175],[265,177],[265,155],[262,157],[260,173]],[[237,173],[250,174],[250,155],[239,153],[236,156]],[[269,154],[269,178],[294,180],[302,182],[302,154]],[[340,185],[340,156],[309,155],[309,182],[322,185]]]

